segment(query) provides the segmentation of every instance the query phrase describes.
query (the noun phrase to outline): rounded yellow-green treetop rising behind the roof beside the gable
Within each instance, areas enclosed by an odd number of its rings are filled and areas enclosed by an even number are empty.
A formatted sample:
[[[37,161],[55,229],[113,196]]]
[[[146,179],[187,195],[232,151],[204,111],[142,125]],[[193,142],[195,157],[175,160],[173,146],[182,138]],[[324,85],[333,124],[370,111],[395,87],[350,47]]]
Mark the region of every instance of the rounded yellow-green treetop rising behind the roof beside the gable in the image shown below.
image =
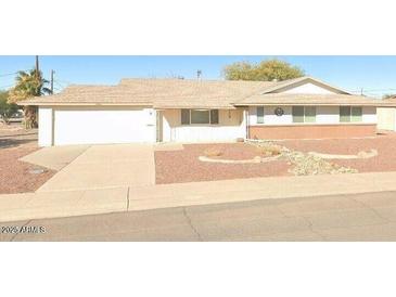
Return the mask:
[[[304,76],[304,70],[277,59],[261,61],[258,64],[237,62],[223,69],[228,80],[285,80]]]

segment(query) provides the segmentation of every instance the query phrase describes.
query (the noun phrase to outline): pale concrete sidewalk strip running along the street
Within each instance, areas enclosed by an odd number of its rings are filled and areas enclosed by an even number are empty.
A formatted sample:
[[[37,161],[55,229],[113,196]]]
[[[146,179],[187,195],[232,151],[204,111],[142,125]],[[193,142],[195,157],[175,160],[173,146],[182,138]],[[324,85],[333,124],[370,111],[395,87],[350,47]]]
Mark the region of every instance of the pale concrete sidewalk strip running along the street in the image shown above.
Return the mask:
[[[396,172],[277,177],[0,195],[0,221],[396,191]]]

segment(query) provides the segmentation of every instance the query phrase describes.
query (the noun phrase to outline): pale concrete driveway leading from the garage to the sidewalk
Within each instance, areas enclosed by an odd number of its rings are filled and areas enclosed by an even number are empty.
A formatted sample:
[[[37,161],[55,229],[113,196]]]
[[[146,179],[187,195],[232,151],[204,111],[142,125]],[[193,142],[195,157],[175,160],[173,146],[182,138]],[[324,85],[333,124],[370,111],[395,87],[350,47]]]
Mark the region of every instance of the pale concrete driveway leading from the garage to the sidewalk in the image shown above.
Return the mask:
[[[142,186],[154,183],[153,145],[91,145],[37,192]]]

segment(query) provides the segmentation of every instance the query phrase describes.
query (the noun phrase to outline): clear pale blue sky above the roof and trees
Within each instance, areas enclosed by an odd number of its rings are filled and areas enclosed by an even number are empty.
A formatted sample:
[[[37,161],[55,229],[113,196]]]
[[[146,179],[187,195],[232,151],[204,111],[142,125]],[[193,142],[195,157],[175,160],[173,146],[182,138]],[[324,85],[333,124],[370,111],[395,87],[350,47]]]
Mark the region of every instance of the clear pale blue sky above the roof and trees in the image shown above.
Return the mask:
[[[334,87],[354,93],[382,96],[396,93],[396,56],[342,55],[164,55],[164,56],[39,56],[44,78],[54,74],[55,92],[71,83],[116,85],[122,78],[170,78],[182,76],[203,79],[223,79],[222,69],[234,62],[257,63],[277,57],[304,69],[306,75],[319,78]],[[0,90],[14,85],[15,73],[35,65],[35,56],[0,55]]]

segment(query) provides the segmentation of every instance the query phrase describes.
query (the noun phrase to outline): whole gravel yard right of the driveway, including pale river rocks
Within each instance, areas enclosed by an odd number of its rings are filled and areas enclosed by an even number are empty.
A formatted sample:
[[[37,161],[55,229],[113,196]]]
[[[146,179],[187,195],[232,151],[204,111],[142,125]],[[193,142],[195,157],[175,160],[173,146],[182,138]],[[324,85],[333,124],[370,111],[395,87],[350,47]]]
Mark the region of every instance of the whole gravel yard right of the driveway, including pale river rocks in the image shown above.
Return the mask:
[[[354,173],[396,171],[396,133],[375,138],[273,141],[291,150],[284,157],[259,164],[219,164],[199,160],[207,150],[221,151],[221,159],[252,159],[259,155],[257,147],[246,143],[184,144],[184,150],[155,152],[156,183],[194,182],[290,175]],[[320,159],[306,153],[357,155],[376,150],[378,156],[355,159]],[[301,154],[298,152],[303,152]],[[288,156],[285,156],[288,158]],[[307,163],[307,164],[305,164]]]

